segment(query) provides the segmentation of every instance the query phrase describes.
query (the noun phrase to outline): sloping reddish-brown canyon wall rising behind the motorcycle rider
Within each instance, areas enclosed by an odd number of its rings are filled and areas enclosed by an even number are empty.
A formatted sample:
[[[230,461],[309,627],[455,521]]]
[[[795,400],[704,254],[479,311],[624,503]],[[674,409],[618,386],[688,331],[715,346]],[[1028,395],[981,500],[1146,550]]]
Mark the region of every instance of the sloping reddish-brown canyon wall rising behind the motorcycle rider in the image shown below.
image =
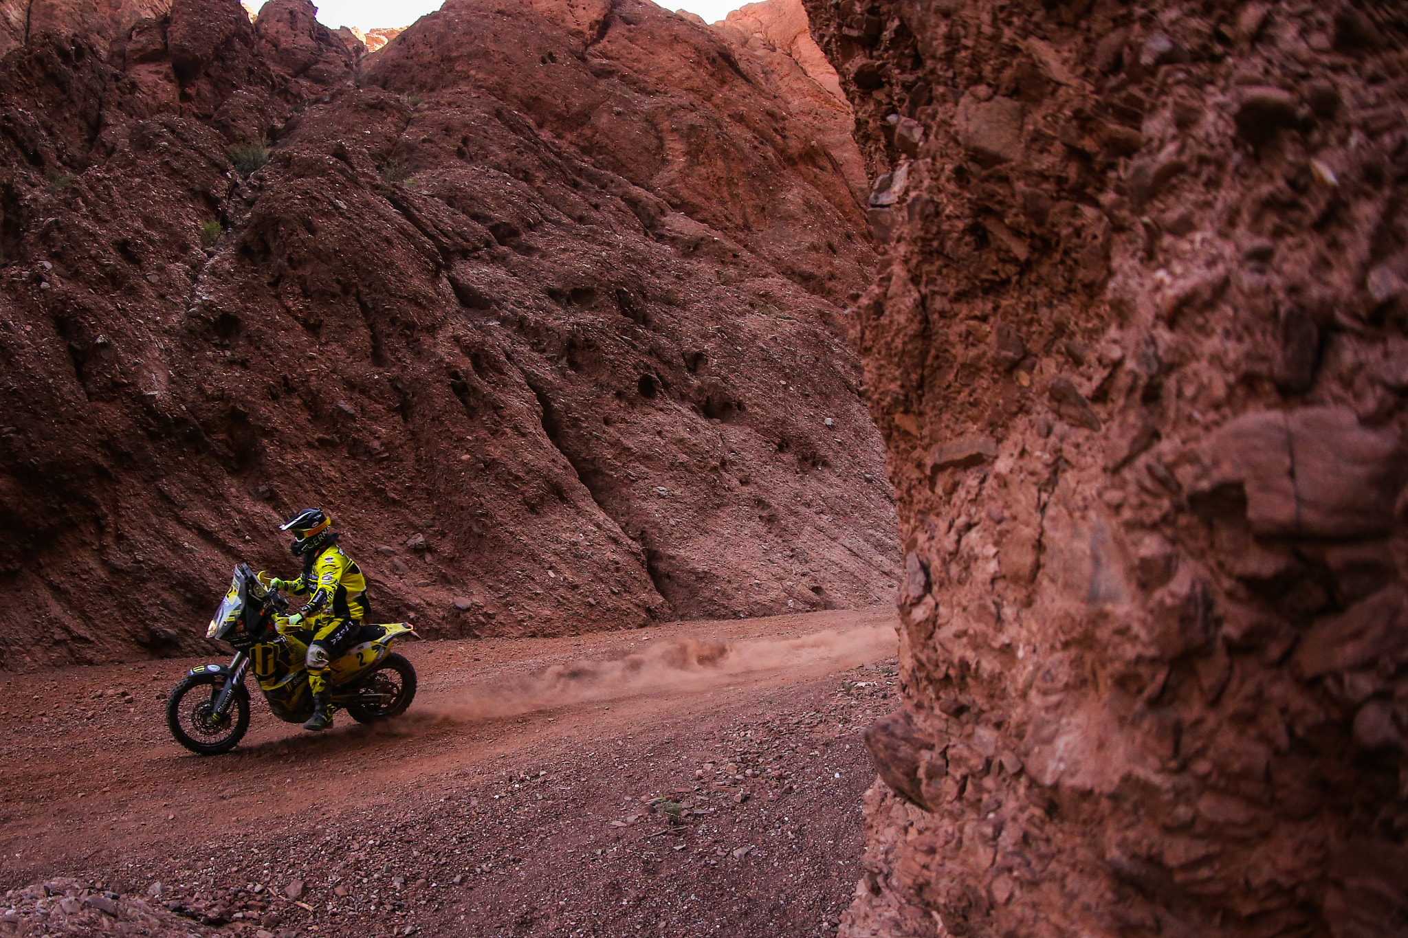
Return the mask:
[[[121,13],[0,68],[0,664],[201,647],[311,503],[432,633],[886,595],[873,253],[791,59],[629,1],[360,62],[306,1]]]

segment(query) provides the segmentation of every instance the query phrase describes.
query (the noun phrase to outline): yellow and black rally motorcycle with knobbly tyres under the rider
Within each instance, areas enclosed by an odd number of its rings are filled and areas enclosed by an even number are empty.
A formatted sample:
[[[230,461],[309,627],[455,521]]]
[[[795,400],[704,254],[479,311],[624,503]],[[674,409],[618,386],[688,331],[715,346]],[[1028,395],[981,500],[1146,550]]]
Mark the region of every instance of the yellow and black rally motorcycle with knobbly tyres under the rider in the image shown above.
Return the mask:
[[[255,681],[269,709],[284,723],[313,714],[313,688],[304,667],[311,629],[289,627],[289,600],[248,564],[235,567],[230,592],[215,609],[207,638],[228,641],[235,657],[228,665],[191,668],[166,699],[166,726],[191,752],[220,755],[239,744],[249,728],[249,690]],[[415,631],[404,622],[362,626],[352,645],[332,662],[328,675],[329,712],[346,710],[358,723],[390,720],[415,698],[415,668],[391,644]]]

